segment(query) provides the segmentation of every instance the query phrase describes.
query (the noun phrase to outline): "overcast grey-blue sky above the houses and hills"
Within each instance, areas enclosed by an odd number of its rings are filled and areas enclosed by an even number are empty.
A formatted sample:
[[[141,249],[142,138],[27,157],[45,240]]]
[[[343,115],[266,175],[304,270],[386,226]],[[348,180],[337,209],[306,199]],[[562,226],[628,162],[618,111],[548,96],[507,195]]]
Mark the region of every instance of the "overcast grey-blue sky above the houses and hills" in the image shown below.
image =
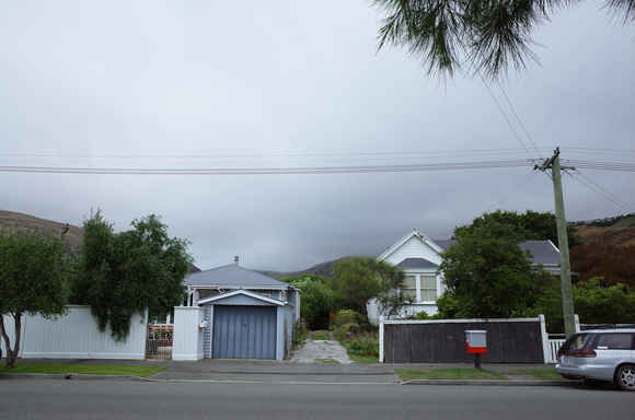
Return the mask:
[[[201,269],[299,270],[553,212],[531,160],[559,147],[582,161],[568,220],[634,212],[635,28],[590,3],[501,89],[378,52],[370,1],[0,0],[0,208],[80,226],[99,208],[117,231],[154,213]]]

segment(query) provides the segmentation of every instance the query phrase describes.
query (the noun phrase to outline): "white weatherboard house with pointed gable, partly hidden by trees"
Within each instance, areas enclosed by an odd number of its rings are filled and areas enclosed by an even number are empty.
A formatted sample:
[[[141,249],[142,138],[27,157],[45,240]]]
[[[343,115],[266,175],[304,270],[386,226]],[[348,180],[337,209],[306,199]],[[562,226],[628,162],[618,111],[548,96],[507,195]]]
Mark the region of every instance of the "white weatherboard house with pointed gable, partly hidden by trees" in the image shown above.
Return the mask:
[[[378,259],[403,268],[406,279],[404,290],[415,301],[408,305],[403,315],[414,315],[425,311],[428,315],[437,313],[436,300],[443,293],[443,276],[437,275],[441,264],[441,252],[448,250],[453,241],[431,241],[426,235],[413,229],[397,241]],[[522,249],[529,249],[534,264],[553,275],[559,275],[559,252],[551,241],[528,241],[519,244]],[[371,302],[368,306],[369,319],[379,323],[379,308]]]

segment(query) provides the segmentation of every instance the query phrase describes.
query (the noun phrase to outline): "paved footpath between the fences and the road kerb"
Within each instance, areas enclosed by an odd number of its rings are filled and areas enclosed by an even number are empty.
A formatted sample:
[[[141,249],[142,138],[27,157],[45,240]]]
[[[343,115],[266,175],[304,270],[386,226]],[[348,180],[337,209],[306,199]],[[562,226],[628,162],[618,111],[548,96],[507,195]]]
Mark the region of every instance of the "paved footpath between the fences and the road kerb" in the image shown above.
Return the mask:
[[[474,369],[473,364],[337,364],[296,363],[263,360],[203,360],[196,362],[150,360],[86,360],[86,359],[26,359],[18,364],[111,364],[165,366],[163,372],[140,378],[136,376],[104,376],[68,374],[0,374],[0,380],[10,377],[50,377],[68,380],[136,380],[173,382],[224,382],[224,383],[282,383],[282,384],[373,384],[373,385],[497,385],[497,386],[578,386],[580,381],[536,381],[517,373],[523,369],[553,369],[549,364],[487,364],[483,369],[498,372],[506,381],[411,381],[402,382],[395,369]]]

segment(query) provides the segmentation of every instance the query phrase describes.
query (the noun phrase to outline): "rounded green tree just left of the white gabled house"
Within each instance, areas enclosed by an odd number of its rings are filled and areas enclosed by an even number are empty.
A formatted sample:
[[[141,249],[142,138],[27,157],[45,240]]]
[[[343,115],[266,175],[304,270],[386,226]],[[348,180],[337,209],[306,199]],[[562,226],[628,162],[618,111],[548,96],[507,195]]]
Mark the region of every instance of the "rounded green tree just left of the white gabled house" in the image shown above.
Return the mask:
[[[394,291],[403,285],[405,278],[400,267],[362,256],[340,259],[333,266],[333,272],[337,279],[335,290],[339,300],[358,312],[367,325],[370,324],[368,302],[377,299],[380,305],[382,302],[385,305],[385,302],[395,298]],[[404,300],[397,302],[397,305],[403,307],[408,303]]]

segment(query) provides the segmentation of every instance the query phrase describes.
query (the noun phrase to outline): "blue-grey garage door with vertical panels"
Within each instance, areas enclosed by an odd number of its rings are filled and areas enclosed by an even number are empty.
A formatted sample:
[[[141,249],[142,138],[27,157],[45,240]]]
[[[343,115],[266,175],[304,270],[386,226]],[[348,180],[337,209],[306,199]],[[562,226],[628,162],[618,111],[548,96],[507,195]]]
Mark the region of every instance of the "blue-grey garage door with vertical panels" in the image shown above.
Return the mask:
[[[276,359],[275,306],[213,306],[211,357]]]

